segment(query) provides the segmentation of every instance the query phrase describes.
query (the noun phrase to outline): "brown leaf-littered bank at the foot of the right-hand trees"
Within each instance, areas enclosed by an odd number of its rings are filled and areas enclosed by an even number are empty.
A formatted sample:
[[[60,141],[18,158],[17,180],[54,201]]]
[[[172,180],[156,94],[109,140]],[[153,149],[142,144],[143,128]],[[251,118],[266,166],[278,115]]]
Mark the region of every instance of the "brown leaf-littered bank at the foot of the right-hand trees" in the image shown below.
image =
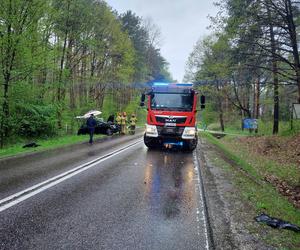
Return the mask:
[[[242,137],[238,141],[253,153],[281,164],[296,164],[300,169],[300,135]]]

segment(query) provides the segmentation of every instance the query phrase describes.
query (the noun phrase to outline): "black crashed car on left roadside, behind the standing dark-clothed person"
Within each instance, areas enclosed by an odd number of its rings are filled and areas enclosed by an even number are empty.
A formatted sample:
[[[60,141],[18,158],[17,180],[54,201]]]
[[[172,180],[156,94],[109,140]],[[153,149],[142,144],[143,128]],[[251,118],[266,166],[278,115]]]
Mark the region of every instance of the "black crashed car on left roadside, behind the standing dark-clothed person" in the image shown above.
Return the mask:
[[[114,133],[119,132],[119,127],[112,122],[104,122],[97,120],[97,125],[95,127],[95,134],[103,135],[113,135]],[[82,124],[79,128],[77,135],[86,135],[89,134],[89,130],[86,124]]]

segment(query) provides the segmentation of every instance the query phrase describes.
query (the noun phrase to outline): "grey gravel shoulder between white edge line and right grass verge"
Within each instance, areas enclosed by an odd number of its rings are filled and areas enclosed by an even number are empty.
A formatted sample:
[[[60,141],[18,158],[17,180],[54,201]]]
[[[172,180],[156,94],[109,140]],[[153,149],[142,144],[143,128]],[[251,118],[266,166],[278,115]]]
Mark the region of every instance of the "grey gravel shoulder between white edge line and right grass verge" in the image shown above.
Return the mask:
[[[255,211],[234,185],[234,171],[220,151],[199,139],[200,160],[215,249],[274,249],[259,238]]]

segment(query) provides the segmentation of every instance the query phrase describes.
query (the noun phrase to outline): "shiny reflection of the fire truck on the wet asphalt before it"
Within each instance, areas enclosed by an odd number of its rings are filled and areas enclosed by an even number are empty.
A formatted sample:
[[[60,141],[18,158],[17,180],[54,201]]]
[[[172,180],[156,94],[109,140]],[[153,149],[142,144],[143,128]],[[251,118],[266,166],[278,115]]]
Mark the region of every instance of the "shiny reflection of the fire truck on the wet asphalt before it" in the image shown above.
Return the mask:
[[[150,211],[166,219],[194,207],[193,163],[190,153],[175,150],[148,150],[144,175],[145,198]],[[189,204],[190,203],[190,204]]]

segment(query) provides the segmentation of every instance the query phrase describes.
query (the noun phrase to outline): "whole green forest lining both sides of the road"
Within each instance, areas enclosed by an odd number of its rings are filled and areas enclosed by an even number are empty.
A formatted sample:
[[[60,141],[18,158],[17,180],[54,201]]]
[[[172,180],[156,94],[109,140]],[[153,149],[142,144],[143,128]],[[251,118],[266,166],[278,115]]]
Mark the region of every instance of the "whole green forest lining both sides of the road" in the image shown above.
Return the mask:
[[[298,133],[299,2],[219,0],[186,63],[185,82],[207,97],[202,126]],[[74,134],[75,117],[141,112],[140,83],[172,81],[151,19],[117,13],[103,0],[0,2],[0,146]]]

